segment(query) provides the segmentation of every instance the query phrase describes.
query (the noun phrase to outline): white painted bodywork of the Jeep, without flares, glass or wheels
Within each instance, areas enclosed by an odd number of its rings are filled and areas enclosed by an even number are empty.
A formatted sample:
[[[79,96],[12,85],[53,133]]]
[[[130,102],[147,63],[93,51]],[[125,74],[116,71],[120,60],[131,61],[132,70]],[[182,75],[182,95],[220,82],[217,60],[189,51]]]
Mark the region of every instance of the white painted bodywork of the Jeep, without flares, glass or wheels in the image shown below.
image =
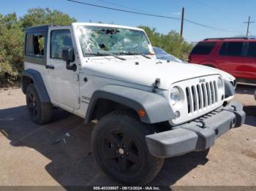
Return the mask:
[[[195,85],[200,77],[206,77],[206,79],[222,77],[230,79],[230,81],[234,79],[234,77],[224,71],[206,66],[177,62],[167,63],[167,61],[159,63],[155,55],[150,55],[151,59],[144,58],[141,55],[121,55],[126,61],[121,61],[113,56],[83,57],[76,31],[77,26],[81,25],[129,28],[143,31],[140,28],[95,23],[72,23],[71,26],[53,26],[50,28],[48,36],[50,36],[50,32],[53,30],[69,29],[71,31],[75,51],[74,63],[78,67],[77,71],[67,70],[64,61],[50,58],[50,37],[48,37],[47,64],[54,66],[55,69],[45,69],[45,66],[27,62],[25,63],[25,69],[39,71],[53,105],[59,106],[80,117],[86,116],[89,98],[91,98],[94,91],[99,90],[99,88],[105,85],[121,85],[151,91],[155,79],[159,78],[160,85],[157,93],[165,97],[169,103],[170,88],[173,86],[180,86],[184,90],[184,87],[187,85]],[[136,65],[135,62],[139,64]],[[83,81],[85,77],[87,82]],[[181,117],[178,121],[173,120],[173,124],[195,119],[223,104],[223,101],[219,101],[213,106],[189,115],[185,111],[186,101],[185,99],[184,106],[178,108],[172,106],[174,111],[181,112]]]

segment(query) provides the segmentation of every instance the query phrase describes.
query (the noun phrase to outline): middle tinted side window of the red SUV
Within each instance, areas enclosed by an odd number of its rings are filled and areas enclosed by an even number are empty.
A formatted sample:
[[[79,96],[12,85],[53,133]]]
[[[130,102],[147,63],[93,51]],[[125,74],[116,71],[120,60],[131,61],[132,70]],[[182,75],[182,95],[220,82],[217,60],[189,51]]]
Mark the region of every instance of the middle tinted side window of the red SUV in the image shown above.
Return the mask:
[[[225,42],[219,51],[220,55],[242,55],[244,42]]]

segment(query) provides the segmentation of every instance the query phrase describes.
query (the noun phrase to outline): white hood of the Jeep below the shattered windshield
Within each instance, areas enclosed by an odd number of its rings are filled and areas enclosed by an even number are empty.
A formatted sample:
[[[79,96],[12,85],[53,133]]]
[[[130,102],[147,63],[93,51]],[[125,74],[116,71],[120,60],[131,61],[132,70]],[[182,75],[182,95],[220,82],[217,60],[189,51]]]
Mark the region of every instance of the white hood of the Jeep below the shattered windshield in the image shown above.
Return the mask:
[[[94,59],[94,75],[129,82],[138,85],[152,86],[155,79],[160,79],[159,88],[168,90],[174,82],[195,77],[219,74],[208,67],[197,64],[157,61],[152,58]]]

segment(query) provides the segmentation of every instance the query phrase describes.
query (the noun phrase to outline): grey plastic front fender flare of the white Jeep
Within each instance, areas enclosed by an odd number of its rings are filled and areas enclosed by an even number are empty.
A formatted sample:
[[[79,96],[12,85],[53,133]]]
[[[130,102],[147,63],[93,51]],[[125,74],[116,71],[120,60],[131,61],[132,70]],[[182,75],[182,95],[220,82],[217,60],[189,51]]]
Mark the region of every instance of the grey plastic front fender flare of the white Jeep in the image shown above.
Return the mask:
[[[106,85],[96,90],[91,96],[85,117],[86,124],[92,120],[94,106],[96,106],[97,101],[101,98],[128,106],[137,113],[140,109],[143,109],[146,115],[140,116],[142,122],[150,124],[165,122],[176,117],[169,102],[162,95],[132,87]]]

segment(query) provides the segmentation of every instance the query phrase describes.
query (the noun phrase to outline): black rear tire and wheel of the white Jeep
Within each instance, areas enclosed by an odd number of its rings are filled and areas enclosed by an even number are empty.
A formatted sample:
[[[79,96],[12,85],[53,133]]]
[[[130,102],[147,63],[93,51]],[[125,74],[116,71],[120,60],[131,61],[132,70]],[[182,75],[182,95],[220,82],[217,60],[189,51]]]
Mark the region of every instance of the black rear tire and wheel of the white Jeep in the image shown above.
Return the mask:
[[[42,125],[52,119],[53,105],[42,103],[34,84],[30,84],[26,89],[26,105],[33,122]]]

